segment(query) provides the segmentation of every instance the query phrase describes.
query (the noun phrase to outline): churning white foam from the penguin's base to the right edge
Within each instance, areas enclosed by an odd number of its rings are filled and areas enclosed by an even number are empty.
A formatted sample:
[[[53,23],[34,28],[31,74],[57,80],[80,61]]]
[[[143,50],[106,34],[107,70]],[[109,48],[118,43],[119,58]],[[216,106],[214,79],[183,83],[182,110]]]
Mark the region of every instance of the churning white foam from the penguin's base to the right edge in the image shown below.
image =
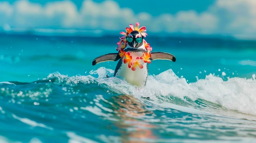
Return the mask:
[[[225,74],[222,73],[222,75]],[[99,75],[99,77],[103,77],[103,75]],[[209,74],[205,79],[199,79],[188,84],[185,78],[177,77],[170,69],[156,76],[148,76],[144,88],[132,86],[116,77],[99,78],[97,81],[107,84],[112,90],[137,97],[150,97],[152,100],[165,100],[165,97],[170,96],[181,99],[189,97],[193,101],[204,99],[231,110],[256,115],[256,80],[254,75],[251,79],[233,77],[223,81],[221,77]]]

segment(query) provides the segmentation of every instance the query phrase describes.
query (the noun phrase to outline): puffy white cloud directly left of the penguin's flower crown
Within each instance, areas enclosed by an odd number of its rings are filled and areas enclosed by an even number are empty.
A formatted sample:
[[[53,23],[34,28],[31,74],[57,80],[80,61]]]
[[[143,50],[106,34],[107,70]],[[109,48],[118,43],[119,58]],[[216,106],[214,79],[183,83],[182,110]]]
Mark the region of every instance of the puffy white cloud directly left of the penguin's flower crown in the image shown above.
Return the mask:
[[[81,28],[120,30],[124,25],[135,22],[135,14],[131,9],[120,8],[117,2],[106,0],[96,3],[85,0],[80,11]],[[128,23],[128,24],[127,24]]]

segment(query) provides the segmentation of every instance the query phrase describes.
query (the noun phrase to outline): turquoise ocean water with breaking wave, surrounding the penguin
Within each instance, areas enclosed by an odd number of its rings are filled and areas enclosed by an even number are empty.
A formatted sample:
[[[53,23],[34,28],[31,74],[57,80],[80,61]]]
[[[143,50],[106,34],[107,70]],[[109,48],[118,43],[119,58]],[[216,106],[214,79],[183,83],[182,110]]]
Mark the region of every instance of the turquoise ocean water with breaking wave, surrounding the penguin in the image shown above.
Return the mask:
[[[256,142],[256,41],[146,40],[177,60],[152,61],[136,87],[117,62],[92,66],[118,35],[0,35],[0,142]]]

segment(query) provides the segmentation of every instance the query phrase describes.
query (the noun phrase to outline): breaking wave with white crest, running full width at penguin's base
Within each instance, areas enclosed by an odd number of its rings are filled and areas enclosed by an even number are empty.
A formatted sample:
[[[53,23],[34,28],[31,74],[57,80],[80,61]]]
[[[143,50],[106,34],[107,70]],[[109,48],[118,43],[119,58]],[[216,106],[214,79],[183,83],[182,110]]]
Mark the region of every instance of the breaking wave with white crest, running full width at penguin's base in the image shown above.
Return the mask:
[[[187,83],[185,78],[178,77],[169,69],[159,75],[149,75],[146,86],[137,87],[113,77],[113,73],[113,70],[104,67],[91,70],[90,75],[86,76],[68,77],[52,73],[43,80],[27,83],[27,86],[26,83],[2,82],[0,84],[6,86],[2,87],[0,92],[14,98],[23,96],[34,99],[48,97],[53,88],[58,88],[65,94],[79,92],[84,95],[100,95],[107,92],[112,95],[132,95],[138,99],[144,97],[142,99],[157,103],[171,103],[219,114],[222,114],[220,111],[232,110],[236,113],[256,115],[256,80],[253,76],[250,79],[232,77],[224,81],[221,77],[209,74],[205,79]],[[13,84],[28,89],[26,92],[6,90]],[[42,85],[44,88],[40,88]]]

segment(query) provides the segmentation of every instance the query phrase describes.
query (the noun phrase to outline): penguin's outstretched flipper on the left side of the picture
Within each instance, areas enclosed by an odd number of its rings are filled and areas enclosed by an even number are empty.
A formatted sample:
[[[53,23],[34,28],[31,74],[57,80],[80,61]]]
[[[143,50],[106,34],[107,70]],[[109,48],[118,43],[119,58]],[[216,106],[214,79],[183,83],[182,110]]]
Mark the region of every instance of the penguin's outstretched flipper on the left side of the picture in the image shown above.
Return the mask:
[[[95,64],[99,64],[101,62],[117,61],[120,58],[121,57],[119,56],[119,53],[111,53],[111,54],[102,55],[102,56],[96,57],[92,61],[92,66],[94,66]]]

